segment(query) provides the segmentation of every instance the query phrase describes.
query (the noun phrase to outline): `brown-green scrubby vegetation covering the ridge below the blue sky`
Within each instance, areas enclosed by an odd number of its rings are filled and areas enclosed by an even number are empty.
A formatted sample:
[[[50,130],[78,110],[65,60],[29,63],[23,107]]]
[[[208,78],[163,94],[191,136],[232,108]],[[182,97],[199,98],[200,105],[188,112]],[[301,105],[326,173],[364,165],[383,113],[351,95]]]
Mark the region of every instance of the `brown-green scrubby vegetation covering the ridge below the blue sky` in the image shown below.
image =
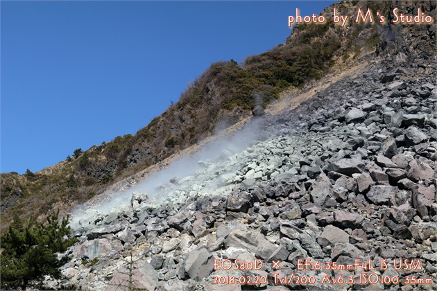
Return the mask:
[[[431,1],[343,1],[334,6],[341,15],[354,15],[357,7],[370,7],[386,15],[393,7],[410,13],[418,7],[425,12],[435,10]],[[330,20],[331,13],[332,7],[323,12],[327,24],[296,25],[284,44],[252,55],[242,64],[234,60],[211,64],[189,84],[177,103],[134,135],[117,136],[85,151],[78,149],[72,157],[37,173],[1,174],[1,228],[8,226],[13,215],[38,217],[53,208],[65,213],[114,182],[202,141],[214,134],[216,125],[223,129],[250,116],[255,105],[268,106],[285,89],[305,87],[330,69],[357,62],[366,53],[390,53],[391,45],[397,44],[386,39],[388,31],[402,35],[411,43],[411,51],[415,45],[429,44],[432,54],[429,39],[435,43],[435,35],[423,35],[417,41],[408,38],[409,30],[423,30],[418,25],[395,27],[349,21],[341,28]],[[422,58],[427,58],[426,53]]]

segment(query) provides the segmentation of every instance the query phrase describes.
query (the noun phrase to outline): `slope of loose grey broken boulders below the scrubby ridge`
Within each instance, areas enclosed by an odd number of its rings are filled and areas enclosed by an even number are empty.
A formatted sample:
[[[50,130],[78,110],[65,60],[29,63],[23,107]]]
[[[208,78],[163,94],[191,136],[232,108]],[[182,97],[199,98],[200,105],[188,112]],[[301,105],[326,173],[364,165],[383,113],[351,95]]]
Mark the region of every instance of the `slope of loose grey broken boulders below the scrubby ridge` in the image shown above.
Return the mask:
[[[133,193],[122,210],[89,209],[68,281],[46,283],[436,290],[436,69],[369,65],[298,109],[258,117],[256,142],[163,184],[160,203]]]

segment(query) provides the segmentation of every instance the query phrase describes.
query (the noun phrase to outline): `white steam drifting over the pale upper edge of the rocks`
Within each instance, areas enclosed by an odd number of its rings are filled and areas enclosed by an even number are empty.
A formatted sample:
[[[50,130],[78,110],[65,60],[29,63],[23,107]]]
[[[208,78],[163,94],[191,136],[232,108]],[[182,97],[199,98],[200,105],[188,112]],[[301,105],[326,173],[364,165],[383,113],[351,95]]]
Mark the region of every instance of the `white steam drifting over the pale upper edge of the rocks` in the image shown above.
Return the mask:
[[[259,141],[262,120],[255,118],[234,132],[231,137],[216,136],[198,152],[172,161],[167,168],[150,173],[142,181],[122,191],[110,191],[94,201],[76,207],[72,213],[72,227],[88,209],[98,213],[121,211],[130,206],[132,193],[146,193],[151,204],[159,204],[166,197],[214,191],[218,186],[230,184],[241,167],[238,154]],[[118,210],[117,210],[118,209]],[[89,212],[89,211],[87,211]]]

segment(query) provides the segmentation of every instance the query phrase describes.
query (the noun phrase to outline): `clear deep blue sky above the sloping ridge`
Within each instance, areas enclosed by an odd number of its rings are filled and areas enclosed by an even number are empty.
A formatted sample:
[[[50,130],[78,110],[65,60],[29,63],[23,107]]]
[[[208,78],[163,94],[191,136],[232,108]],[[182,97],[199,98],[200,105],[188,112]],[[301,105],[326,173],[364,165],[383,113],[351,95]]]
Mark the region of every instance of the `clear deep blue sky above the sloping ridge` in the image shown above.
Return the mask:
[[[135,134],[212,62],[284,43],[336,1],[1,1],[0,173]]]

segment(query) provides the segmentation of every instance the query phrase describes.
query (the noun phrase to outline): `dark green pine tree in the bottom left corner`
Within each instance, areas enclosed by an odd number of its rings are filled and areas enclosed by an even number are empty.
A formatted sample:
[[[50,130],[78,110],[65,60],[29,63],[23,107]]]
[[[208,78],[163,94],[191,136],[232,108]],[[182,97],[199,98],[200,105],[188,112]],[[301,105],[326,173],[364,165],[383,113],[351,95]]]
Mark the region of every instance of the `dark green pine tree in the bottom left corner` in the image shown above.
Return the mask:
[[[60,253],[73,245],[76,238],[68,237],[69,217],[59,223],[58,215],[59,210],[49,215],[46,225],[30,218],[23,226],[18,216],[14,218],[8,232],[1,236],[1,289],[26,290],[45,275],[60,277],[59,268],[69,261],[69,256]]]

